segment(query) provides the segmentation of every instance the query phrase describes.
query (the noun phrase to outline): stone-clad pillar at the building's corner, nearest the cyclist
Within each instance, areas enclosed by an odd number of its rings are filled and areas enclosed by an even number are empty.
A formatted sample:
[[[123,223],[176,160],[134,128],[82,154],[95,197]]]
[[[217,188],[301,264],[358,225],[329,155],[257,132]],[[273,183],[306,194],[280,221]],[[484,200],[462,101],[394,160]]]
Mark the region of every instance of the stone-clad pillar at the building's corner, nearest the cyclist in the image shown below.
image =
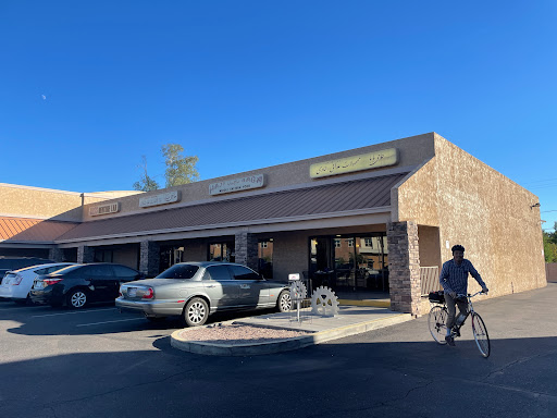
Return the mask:
[[[420,248],[416,222],[387,224],[391,309],[420,315]]]

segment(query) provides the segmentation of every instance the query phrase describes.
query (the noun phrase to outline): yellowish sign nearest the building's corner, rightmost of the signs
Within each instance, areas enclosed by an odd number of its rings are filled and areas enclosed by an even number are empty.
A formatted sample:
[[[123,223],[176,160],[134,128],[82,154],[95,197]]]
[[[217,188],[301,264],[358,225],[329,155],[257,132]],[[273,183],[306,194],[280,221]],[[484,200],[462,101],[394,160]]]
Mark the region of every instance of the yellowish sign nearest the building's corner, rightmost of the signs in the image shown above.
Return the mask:
[[[309,174],[311,179],[319,179],[329,175],[351,173],[354,171],[395,165],[396,163],[398,163],[398,150],[396,148],[387,148],[382,151],[318,162],[310,165]]]

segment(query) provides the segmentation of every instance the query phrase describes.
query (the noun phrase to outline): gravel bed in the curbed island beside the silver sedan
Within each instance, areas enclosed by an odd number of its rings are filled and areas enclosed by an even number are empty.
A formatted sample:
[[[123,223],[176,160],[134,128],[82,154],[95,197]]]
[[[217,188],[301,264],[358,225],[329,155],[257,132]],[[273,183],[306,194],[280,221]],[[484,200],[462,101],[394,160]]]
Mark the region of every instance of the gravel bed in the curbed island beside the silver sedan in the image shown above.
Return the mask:
[[[215,324],[202,328],[188,328],[180,333],[187,341],[206,342],[212,344],[261,344],[280,340],[295,339],[309,335],[311,332],[281,330],[248,324]]]

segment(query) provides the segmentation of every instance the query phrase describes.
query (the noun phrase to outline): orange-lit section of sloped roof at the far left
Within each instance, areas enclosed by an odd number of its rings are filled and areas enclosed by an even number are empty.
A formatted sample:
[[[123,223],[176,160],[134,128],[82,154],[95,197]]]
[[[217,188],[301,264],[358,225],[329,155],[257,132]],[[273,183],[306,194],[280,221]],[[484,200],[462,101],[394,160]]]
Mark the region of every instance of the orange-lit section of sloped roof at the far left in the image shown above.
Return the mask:
[[[52,243],[76,225],[78,223],[0,217],[0,241]]]

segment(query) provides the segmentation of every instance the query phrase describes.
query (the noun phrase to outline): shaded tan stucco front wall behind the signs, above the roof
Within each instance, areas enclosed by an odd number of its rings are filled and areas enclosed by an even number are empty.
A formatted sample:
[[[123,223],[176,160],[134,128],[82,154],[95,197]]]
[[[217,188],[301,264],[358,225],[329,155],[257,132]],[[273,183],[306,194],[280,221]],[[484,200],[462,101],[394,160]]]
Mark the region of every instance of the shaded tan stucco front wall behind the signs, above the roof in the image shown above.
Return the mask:
[[[348,145],[349,144],[345,144]],[[375,170],[369,170],[363,172],[357,172],[357,173],[348,173],[348,174],[342,174],[342,175],[335,175],[334,177],[324,177],[322,180],[313,180],[310,177],[310,165],[317,162],[323,162],[323,161],[330,161],[334,159],[339,158],[346,158],[351,156],[357,156],[360,153],[366,152],[373,152],[379,151],[386,148],[395,147],[398,149],[399,153],[399,163],[395,167],[386,167],[384,169],[375,169]],[[171,208],[176,207],[180,204],[187,204],[193,201],[212,201],[220,198],[231,198],[231,197],[239,197],[246,194],[250,193],[260,193],[264,192],[265,189],[270,188],[280,188],[280,187],[287,187],[292,185],[297,184],[315,184],[319,185],[320,183],[331,181],[331,180],[342,180],[343,177],[347,177],[349,175],[354,174],[362,174],[366,172],[381,172],[381,171],[387,171],[389,169],[396,169],[396,168],[405,168],[405,167],[417,167],[421,164],[423,161],[428,160],[429,158],[433,157],[434,155],[434,133],[423,134],[423,135],[417,135],[411,136],[408,138],[403,139],[396,139],[391,140],[387,143],[381,143],[371,145],[368,147],[361,147],[356,149],[350,149],[343,152],[337,153],[331,153],[325,155],[321,157],[310,158],[307,160],[300,160],[295,162],[289,162],[285,164],[280,165],[273,165],[268,168],[261,168],[257,170],[246,171],[242,173],[231,174],[222,177],[215,177],[210,180],[205,180],[200,182],[195,182],[190,184],[186,184],[183,186],[176,186],[176,187],[170,187],[164,189],[159,189],[154,192],[149,192],[141,195],[136,196],[128,196],[128,197],[122,197],[119,198],[117,201],[120,202],[121,210],[116,214],[104,214],[102,217],[89,217],[89,208],[86,207],[84,211],[84,220],[92,220],[92,219],[99,219],[99,218],[110,218],[114,216],[122,216],[126,213],[136,213],[136,212],[145,212],[145,211],[156,211],[161,210],[164,208]],[[247,190],[247,192],[237,192],[237,193],[231,193],[227,195],[219,195],[219,196],[211,196],[209,194],[209,186],[212,183],[222,182],[226,180],[232,179],[238,179],[244,177],[248,175],[255,175],[255,174],[264,174],[265,175],[265,187],[253,189],[253,190]],[[139,208],[139,198],[153,196],[171,190],[178,189],[182,192],[182,199],[180,204],[173,204],[173,205],[165,205],[165,206],[158,206],[152,208]]]

